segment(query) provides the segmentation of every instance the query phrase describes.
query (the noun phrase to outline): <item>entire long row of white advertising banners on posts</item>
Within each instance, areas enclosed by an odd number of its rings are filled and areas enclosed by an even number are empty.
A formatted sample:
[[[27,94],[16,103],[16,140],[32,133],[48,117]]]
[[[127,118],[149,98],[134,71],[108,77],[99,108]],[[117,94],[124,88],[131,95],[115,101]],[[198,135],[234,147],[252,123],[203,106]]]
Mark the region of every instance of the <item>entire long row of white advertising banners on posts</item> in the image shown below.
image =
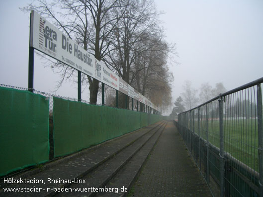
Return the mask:
[[[147,98],[111,71],[102,61],[96,60],[92,54],[64,35],[37,12],[32,10],[30,20],[30,47],[155,108]]]

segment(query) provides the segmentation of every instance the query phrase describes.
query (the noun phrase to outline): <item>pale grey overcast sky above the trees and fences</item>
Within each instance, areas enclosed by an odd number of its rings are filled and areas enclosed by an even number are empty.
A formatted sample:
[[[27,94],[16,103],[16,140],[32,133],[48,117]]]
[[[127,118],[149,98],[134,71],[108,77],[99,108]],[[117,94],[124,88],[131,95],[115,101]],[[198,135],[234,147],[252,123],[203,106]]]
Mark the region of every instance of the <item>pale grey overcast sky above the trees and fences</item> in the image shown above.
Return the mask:
[[[29,13],[19,10],[29,0],[2,0],[0,6],[0,84],[27,87]],[[190,80],[222,82],[227,90],[263,77],[263,0],[156,0],[166,40],[176,43],[179,65],[173,100]],[[35,56],[34,88],[55,90],[58,74],[43,68]],[[77,97],[77,85],[64,84],[56,94]],[[82,94],[89,100],[88,91]]]

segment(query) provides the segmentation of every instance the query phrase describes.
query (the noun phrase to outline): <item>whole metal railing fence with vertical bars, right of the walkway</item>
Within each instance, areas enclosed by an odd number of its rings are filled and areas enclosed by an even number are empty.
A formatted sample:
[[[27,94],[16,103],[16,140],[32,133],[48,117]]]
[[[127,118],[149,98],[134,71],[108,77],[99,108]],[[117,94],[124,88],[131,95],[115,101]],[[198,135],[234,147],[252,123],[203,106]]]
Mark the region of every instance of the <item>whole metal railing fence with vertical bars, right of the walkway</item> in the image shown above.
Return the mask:
[[[263,197],[262,83],[178,115],[178,131],[214,196]]]

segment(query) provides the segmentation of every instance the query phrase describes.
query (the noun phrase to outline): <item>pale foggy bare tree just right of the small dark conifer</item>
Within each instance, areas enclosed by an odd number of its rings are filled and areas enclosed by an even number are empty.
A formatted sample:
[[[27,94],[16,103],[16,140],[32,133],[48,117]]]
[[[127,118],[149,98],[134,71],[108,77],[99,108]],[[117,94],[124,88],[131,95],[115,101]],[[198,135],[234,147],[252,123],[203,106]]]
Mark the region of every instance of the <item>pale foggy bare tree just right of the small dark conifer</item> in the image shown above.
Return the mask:
[[[198,99],[196,97],[197,90],[192,87],[191,81],[186,80],[183,84],[184,92],[181,93],[183,98],[183,103],[186,110],[196,107]]]

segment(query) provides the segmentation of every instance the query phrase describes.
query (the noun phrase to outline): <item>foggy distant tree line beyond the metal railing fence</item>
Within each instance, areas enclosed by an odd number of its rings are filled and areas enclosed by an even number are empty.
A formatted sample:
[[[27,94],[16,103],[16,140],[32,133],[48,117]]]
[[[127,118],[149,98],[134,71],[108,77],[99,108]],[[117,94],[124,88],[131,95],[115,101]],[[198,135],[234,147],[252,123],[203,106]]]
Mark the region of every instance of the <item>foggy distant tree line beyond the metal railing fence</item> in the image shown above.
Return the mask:
[[[170,114],[173,119],[176,119],[179,113],[201,105],[218,96],[220,93],[225,93],[227,91],[222,83],[216,83],[215,87],[212,88],[212,86],[206,82],[201,84],[199,88],[199,97],[197,97],[198,90],[192,87],[190,81],[185,81],[183,90],[181,96],[176,99],[172,113]],[[255,101],[255,95],[253,95],[252,92],[232,94],[226,96],[225,100],[223,113],[226,118],[251,119],[258,116],[258,106]],[[212,103],[212,105],[208,106],[208,116],[211,118],[218,118],[218,110],[218,106]],[[205,118],[205,115],[200,118]]]

